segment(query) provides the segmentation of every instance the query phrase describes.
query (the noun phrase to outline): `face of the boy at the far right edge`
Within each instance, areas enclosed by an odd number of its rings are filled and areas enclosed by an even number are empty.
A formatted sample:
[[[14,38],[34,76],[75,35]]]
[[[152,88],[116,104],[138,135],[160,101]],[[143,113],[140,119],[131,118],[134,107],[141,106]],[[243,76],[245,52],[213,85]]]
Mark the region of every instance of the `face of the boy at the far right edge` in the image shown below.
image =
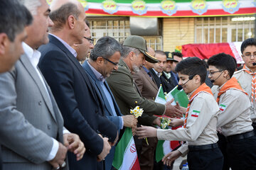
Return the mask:
[[[242,52],[242,60],[244,60],[245,65],[249,69],[256,69],[256,66],[254,66],[252,63],[256,62],[256,46],[255,45],[249,45],[245,47],[245,50]]]

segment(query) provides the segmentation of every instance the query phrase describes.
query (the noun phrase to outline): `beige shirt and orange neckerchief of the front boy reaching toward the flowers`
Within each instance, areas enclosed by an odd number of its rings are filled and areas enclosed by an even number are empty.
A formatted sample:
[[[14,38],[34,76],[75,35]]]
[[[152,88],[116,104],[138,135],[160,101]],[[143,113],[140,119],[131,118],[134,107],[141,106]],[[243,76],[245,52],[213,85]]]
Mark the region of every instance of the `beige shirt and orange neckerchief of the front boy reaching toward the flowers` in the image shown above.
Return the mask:
[[[183,155],[188,152],[188,145],[209,145],[218,141],[216,132],[218,104],[210,88],[204,83],[188,95],[190,106],[185,128],[177,130],[157,130],[159,140],[187,141],[178,149]]]

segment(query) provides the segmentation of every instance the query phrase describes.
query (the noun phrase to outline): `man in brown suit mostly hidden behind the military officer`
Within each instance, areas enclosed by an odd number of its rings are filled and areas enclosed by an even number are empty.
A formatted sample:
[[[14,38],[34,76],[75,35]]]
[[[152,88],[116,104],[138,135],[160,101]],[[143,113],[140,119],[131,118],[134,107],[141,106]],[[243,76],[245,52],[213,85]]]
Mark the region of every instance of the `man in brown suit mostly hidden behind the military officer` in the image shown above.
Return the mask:
[[[150,55],[155,57],[155,52],[151,47],[148,47]],[[144,98],[154,101],[156,98],[158,87],[156,82],[151,77],[149,69],[153,68],[154,64],[145,61],[144,66],[139,72],[132,74],[135,84],[137,84],[139,92]],[[160,119],[154,115],[148,115],[140,119],[143,125],[160,125]],[[154,169],[154,153],[156,151],[157,137],[149,137],[148,144],[142,140],[142,152],[139,157],[139,166],[143,170]]]

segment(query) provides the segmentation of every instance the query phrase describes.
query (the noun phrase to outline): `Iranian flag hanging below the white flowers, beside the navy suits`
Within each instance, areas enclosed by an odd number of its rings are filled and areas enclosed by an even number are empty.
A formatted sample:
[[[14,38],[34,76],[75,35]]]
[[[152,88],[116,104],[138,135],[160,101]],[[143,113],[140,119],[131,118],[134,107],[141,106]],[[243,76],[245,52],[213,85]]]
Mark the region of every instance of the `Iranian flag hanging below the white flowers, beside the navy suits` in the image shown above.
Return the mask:
[[[112,166],[120,170],[140,169],[137,150],[132,136],[132,128],[126,128],[124,135],[122,135],[121,140],[118,142]]]

